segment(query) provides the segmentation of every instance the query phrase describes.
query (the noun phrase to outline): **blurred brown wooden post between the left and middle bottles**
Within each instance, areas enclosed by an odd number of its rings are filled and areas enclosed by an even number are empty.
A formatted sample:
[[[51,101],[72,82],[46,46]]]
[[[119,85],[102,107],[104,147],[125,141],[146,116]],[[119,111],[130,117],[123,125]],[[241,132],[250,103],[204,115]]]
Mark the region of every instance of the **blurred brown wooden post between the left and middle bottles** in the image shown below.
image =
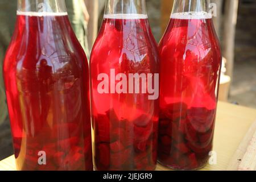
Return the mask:
[[[85,0],[85,4],[90,15],[88,24],[88,43],[89,51],[91,51],[98,34],[98,1]]]

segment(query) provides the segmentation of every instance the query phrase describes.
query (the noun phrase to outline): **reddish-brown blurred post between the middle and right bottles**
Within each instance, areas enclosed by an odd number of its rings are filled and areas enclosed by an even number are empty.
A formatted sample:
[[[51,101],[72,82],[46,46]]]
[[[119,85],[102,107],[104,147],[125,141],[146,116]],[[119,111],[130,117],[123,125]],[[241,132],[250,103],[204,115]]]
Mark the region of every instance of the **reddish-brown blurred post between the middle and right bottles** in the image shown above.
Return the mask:
[[[174,6],[174,0],[161,0],[161,30],[162,34],[166,30],[167,24],[170,20],[170,15]]]

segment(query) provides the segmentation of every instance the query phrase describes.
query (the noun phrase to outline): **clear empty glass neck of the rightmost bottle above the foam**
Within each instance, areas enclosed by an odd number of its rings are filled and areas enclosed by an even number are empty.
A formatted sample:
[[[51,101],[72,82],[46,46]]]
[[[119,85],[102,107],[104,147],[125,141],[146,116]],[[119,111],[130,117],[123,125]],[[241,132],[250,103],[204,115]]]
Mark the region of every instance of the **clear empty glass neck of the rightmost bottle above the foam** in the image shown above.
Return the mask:
[[[209,12],[209,0],[175,0],[172,14]]]

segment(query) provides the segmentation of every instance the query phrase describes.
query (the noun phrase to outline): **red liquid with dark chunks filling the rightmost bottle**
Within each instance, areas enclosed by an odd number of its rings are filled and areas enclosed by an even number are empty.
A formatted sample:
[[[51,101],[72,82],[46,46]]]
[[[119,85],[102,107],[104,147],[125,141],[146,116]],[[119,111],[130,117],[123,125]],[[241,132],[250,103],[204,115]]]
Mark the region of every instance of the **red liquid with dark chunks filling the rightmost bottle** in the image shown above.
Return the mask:
[[[212,150],[221,68],[212,19],[171,19],[159,50],[159,162],[201,168]]]

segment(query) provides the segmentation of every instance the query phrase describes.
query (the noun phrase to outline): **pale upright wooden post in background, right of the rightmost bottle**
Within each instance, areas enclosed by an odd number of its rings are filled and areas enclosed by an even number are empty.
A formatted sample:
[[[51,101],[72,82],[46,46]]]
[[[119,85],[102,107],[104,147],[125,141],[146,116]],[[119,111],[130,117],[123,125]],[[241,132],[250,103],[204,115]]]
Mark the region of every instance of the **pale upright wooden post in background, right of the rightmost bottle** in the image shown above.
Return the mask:
[[[223,56],[226,58],[226,75],[233,78],[234,44],[236,37],[236,24],[238,13],[238,0],[226,0],[223,34]]]

